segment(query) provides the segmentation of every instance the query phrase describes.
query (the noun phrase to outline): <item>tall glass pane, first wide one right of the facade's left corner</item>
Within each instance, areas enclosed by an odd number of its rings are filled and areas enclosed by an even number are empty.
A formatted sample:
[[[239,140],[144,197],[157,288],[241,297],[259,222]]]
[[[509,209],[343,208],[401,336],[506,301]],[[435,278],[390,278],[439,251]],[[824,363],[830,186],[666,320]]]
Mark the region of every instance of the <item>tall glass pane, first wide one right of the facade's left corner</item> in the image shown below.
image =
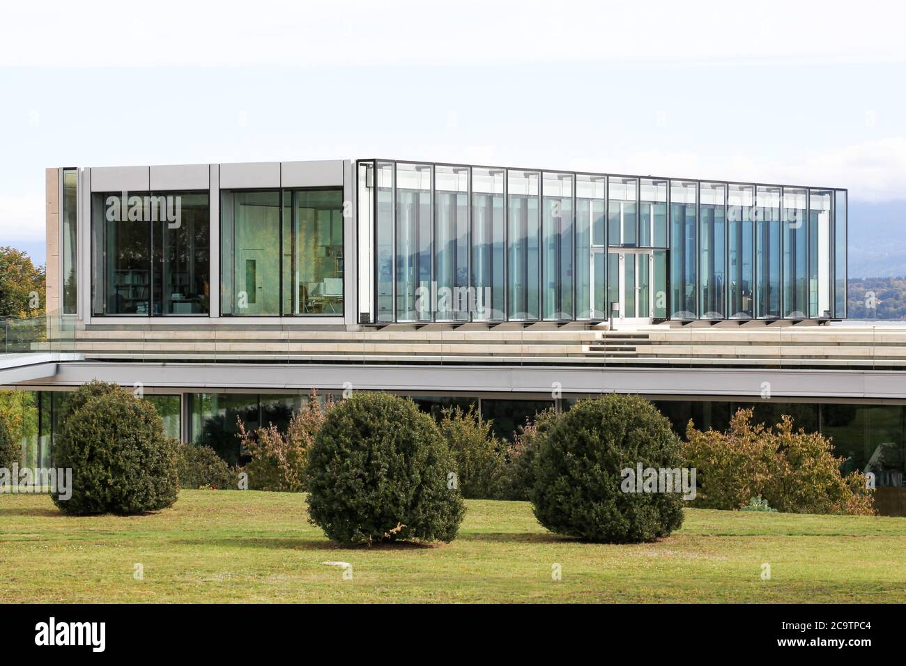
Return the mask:
[[[431,320],[431,166],[397,164],[397,321]]]

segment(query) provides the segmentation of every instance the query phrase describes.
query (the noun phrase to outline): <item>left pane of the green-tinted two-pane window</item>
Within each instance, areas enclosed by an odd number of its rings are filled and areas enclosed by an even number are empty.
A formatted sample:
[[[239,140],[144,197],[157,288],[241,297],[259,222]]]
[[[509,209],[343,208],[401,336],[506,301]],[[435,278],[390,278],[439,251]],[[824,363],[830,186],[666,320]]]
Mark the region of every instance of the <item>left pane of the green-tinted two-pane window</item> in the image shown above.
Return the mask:
[[[220,195],[222,314],[280,314],[280,192]]]

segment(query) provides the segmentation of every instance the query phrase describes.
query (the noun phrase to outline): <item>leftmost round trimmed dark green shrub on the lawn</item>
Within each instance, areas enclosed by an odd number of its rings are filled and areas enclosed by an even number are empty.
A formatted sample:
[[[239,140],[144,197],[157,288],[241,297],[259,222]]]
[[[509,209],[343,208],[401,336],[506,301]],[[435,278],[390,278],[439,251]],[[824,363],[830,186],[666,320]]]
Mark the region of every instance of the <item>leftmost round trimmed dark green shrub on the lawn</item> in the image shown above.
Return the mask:
[[[51,497],[64,513],[128,516],[176,501],[177,441],[149,401],[91,382],[72,394],[61,426],[53,465],[72,468],[72,497]]]

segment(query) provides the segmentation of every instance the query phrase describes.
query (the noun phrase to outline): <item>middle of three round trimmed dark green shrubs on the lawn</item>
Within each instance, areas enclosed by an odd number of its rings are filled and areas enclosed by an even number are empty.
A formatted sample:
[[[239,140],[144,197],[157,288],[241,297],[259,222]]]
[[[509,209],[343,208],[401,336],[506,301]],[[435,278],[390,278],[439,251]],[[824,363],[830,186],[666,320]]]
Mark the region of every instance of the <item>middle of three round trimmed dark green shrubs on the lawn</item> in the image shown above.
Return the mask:
[[[342,543],[452,541],[465,512],[455,471],[414,402],[356,394],[327,414],[309,451],[309,520]]]

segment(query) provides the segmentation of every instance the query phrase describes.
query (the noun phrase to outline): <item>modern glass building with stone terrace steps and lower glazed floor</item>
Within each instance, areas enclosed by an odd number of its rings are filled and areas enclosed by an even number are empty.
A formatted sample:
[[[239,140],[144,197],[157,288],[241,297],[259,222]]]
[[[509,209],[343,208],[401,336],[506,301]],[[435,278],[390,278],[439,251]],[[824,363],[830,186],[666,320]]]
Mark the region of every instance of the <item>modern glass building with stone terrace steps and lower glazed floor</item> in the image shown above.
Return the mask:
[[[231,463],[237,418],[313,390],[475,406],[503,438],[617,391],[680,435],[792,414],[906,514],[906,332],[809,325],[846,317],[845,189],[391,159],[46,183],[48,315],[0,345],[33,464],[95,378]]]

